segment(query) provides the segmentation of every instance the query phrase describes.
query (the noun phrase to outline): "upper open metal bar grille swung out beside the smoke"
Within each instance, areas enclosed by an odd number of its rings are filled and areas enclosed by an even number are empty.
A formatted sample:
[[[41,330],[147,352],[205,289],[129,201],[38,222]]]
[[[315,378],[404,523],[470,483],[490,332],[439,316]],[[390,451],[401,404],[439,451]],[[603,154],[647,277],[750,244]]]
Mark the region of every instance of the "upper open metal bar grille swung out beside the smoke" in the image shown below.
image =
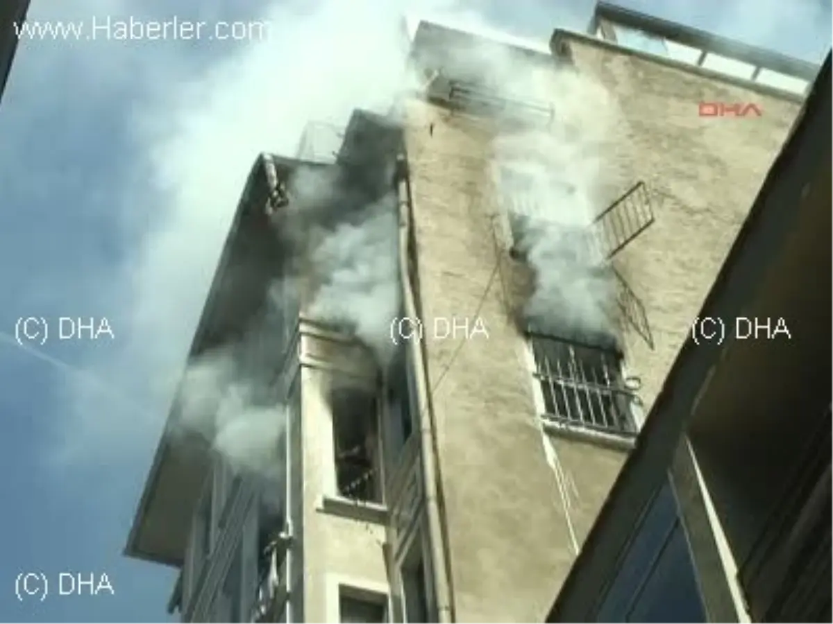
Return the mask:
[[[645,182],[636,182],[623,196],[596,217],[601,247],[608,259],[619,253],[631,240],[654,222],[651,196]]]

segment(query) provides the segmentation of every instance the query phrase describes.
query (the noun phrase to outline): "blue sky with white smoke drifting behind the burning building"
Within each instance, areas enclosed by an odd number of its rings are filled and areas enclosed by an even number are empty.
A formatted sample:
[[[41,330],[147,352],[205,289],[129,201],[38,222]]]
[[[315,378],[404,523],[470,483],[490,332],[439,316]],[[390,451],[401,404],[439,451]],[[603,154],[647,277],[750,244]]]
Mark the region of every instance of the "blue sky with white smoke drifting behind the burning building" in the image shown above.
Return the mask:
[[[819,62],[826,1],[626,6]],[[593,2],[68,4],[32,0],[29,18],[269,23],[262,40],[23,41],[0,106],[0,622],[166,622],[172,573],[122,548],[257,152],[383,98],[402,9],[546,42]],[[52,337],[4,342],[29,316]],[[107,318],[114,338],[58,340],[60,317]],[[106,573],[115,595],[21,603],[20,572]]]

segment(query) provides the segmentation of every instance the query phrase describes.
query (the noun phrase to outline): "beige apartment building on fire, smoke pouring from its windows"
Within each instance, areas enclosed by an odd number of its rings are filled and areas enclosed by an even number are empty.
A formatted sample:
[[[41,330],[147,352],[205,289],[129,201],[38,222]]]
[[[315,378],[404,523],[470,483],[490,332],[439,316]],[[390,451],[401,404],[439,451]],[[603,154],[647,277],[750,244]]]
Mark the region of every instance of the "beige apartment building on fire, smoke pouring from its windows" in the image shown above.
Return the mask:
[[[584,545],[817,72],[613,13],[550,52],[422,23],[389,115],[257,159],[189,369],[234,350],[238,411],[282,433],[265,469],[222,453],[183,382],[127,545],[181,569],[182,622],[544,622],[599,573]],[[470,324],[397,340],[405,316]],[[714,535],[689,597],[737,618]]]

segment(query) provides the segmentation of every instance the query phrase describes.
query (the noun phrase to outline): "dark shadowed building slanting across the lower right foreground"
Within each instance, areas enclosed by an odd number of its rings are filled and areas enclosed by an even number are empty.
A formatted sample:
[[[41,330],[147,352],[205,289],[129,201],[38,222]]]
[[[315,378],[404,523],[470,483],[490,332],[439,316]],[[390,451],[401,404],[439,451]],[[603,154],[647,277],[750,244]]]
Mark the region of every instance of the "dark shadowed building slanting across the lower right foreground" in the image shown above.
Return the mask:
[[[547,622],[833,621],[831,111],[833,53],[697,314],[760,334],[686,339]]]

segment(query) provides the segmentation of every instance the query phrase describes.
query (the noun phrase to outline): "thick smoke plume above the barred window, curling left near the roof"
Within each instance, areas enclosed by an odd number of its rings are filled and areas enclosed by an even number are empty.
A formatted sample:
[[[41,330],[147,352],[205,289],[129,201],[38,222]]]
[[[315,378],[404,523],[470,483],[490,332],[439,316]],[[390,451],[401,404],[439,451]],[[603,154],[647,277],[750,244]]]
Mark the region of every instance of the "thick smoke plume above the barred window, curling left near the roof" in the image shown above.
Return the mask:
[[[548,54],[477,43],[458,52],[456,66],[456,76],[513,105],[501,114],[507,129],[494,141],[491,174],[513,251],[534,273],[522,323],[610,342],[615,290],[593,220],[612,177],[603,158],[616,121],[611,97]]]

